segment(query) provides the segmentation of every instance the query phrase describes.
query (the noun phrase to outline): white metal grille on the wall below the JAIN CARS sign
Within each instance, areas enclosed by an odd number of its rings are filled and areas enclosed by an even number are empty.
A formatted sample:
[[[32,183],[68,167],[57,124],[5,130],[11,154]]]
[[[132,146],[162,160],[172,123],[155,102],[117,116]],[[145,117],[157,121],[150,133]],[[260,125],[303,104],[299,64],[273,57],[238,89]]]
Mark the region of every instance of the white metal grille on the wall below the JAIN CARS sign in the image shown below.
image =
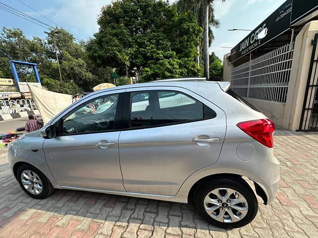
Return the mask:
[[[232,90],[245,98],[286,103],[293,51],[291,43],[233,68]]]

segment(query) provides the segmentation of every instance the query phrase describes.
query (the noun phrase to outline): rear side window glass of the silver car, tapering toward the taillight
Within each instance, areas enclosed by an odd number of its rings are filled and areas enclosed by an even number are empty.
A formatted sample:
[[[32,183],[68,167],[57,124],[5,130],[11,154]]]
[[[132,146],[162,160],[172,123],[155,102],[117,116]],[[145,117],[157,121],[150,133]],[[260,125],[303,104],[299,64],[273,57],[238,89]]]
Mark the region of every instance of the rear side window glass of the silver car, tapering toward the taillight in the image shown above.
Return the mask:
[[[135,102],[140,94],[147,100]],[[138,106],[137,106],[138,105]],[[215,112],[198,100],[177,91],[152,90],[132,93],[131,127],[145,127],[212,119]]]

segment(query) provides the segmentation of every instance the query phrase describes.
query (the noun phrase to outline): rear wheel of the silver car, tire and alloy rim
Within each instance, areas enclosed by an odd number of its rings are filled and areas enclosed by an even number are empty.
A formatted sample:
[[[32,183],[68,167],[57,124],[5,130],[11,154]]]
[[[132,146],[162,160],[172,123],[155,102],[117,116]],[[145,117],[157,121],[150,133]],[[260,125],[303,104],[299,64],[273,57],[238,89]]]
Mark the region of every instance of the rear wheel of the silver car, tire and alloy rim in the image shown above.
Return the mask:
[[[232,194],[230,199],[224,201],[230,193]],[[258,211],[256,196],[247,182],[226,178],[213,179],[202,184],[194,194],[194,207],[207,222],[225,229],[247,225],[255,218]]]

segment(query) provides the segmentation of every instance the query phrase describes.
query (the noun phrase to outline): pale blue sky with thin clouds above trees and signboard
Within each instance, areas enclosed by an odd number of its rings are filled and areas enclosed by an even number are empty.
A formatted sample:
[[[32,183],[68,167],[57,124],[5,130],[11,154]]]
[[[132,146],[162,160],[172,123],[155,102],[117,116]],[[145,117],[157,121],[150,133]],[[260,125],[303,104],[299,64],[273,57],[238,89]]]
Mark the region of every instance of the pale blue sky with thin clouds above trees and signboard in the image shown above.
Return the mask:
[[[221,0],[215,1],[215,15],[221,21],[220,28],[214,29],[215,41],[210,52],[223,60],[223,55],[231,49],[221,47],[234,47],[247,34],[247,31],[228,31],[228,29],[254,29],[285,0]],[[88,40],[98,30],[97,15],[103,5],[111,0],[0,0],[0,2],[14,7],[49,25],[62,26],[76,38]],[[52,22],[39,15],[22,2],[34,8]],[[25,36],[45,37],[47,29],[28,22],[18,16],[0,9],[0,28],[20,28]]]

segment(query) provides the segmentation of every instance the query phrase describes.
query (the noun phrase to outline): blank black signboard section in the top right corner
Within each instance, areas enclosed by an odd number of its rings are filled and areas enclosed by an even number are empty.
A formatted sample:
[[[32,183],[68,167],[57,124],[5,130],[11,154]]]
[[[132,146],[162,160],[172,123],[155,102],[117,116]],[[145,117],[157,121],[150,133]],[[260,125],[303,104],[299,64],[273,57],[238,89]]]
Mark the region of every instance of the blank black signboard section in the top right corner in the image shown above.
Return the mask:
[[[293,0],[291,24],[297,24],[316,10],[318,10],[318,0]]]

